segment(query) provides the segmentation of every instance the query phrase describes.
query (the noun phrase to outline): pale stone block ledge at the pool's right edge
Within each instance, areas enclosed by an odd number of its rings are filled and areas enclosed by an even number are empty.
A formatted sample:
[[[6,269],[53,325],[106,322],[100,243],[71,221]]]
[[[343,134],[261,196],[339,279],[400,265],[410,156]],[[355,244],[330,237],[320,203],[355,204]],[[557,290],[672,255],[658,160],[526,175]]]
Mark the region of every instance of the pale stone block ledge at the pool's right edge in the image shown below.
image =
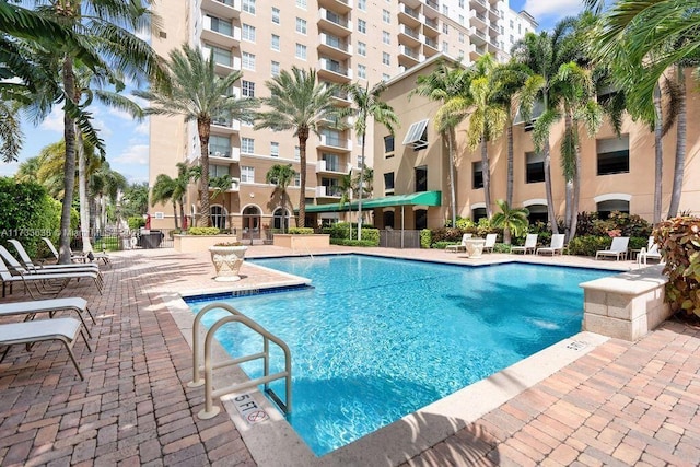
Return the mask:
[[[672,315],[664,303],[668,279],[657,265],[581,284],[583,330],[634,341]]]

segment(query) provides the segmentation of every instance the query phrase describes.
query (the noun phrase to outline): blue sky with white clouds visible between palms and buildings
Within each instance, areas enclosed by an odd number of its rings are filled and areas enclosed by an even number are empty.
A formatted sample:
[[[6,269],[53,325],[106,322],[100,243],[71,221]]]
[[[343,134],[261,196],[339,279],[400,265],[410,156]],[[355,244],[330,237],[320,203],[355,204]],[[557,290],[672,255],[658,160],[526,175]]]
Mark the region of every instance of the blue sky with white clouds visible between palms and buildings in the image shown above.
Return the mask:
[[[511,0],[510,3],[513,10],[526,10],[532,14],[539,23],[540,31],[550,30],[557,21],[576,15],[582,9],[581,0]],[[140,104],[143,105],[142,102]],[[109,166],[121,173],[129,183],[148,182],[148,119],[135,121],[126,113],[98,104],[94,104],[90,112],[94,115],[93,125],[100,130],[100,137],[105,141]],[[54,109],[38,125],[25,121],[22,128],[25,139],[20,160],[9,164],[0,162],[0,176],[13,175],[20,162],[38,155],[42,148],[61,140],[63,119],[60,107]]]

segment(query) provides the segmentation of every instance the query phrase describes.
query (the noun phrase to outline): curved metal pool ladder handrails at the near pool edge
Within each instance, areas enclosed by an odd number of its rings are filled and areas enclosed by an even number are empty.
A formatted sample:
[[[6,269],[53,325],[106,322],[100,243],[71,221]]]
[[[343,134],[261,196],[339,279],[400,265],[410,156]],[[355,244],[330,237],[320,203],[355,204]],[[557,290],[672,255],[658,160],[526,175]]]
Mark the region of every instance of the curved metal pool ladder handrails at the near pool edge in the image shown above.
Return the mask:
[[[231,315],[223,316],[219,318],[211,328],[207,331],[207,336],[205,338],[205,365],[200,366],[200,325],[202,317],[212,310],[225,310],[231,313]],[[211,345],[214,338],[214,332],[217,330],[229,323],[241,323],[242,325],[248,327],[253,331],[257,332],[262,337],[262,351],[258,353],[253,353],[249,355],[240,357],[230,361],[221,362],[212,364],[211,362]],[[270,373],[270,341],[276,343],[282,351],[284,352],[284,371],[269,374]],[[199,387],[202,384],[205,385],[205,408],[199,411],[198,417],[200,419],[210,419],[215,417],[221,410],[219,407],[213,405],[214,397],[221,397],[226,394],[237,393],[243,389],[248,389],[252,387],[256,387],[260,384],[265,385],[265,393],[267,393],[270,398],[279,406],[284,415],[289,415],[292,411],[292,357],[289,350],[289,347],[282,339],[272,335],[262,326],[257,324],[255,320],[250,319],[243,313],[238,312],[233,306],[226,303],[212,303],[210,305],[205,306],[197,313],[195,316],[195,323],[192,324],[192,381],[187,383],[188,387]],[[262,359],[262,376],[247,381],[245,383],[233,384],[228,387],[222,387],[221,389],[213,390],[212,387],[212,372],[213,370],[238,365],[241,363],[249,362],[253,360]],[[201,378],[201,371],[205,372],[205,378]],[[269,383],[276,380],[284,378],[285,386],[285,397],[284,401],[282,401],[277,394],[269,387]]]

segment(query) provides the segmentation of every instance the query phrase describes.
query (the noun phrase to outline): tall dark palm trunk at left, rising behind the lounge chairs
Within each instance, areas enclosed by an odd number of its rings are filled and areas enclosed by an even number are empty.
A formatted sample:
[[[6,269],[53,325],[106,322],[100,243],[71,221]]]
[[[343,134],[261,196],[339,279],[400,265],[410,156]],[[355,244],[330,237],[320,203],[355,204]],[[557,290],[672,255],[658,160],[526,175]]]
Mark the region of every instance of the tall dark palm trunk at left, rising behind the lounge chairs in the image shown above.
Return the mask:
[[[68,98],[74,101],[75,77],[73,74],[73,60],[68,55],[63,57],[61,74],[63,90]],[[66,112],[63,112],[63,140],[66,141],[66,162],[63,164],[63,202],[61,206],[61,233],[58,262],[67,265],[71,262],[70,210],[75,185],[75,121]]]

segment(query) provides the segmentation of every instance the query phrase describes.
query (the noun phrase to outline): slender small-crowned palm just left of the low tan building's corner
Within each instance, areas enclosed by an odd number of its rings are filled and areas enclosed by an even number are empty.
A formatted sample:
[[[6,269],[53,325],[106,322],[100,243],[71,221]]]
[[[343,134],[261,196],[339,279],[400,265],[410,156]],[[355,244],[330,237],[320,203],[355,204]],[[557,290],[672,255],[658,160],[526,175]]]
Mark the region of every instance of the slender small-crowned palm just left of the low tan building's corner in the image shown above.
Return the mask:
[[[358,137],[362,138],[362,151],[360,163],[360,187],[364,177],[364,148],[368,130],[368,119],[371,117],[375,124],[381,124],[394,136],[394,127],[398,125],[398,116],[390,105],[381,100],[382,92],[386,89],[384,82],[375,84],[370,89],[370,84],[362,87],[359,83],[350,86],[350,98],[354,104],[355,122],[354,130]],[[362,190],[358,191],[358,240],[362,240]]]

